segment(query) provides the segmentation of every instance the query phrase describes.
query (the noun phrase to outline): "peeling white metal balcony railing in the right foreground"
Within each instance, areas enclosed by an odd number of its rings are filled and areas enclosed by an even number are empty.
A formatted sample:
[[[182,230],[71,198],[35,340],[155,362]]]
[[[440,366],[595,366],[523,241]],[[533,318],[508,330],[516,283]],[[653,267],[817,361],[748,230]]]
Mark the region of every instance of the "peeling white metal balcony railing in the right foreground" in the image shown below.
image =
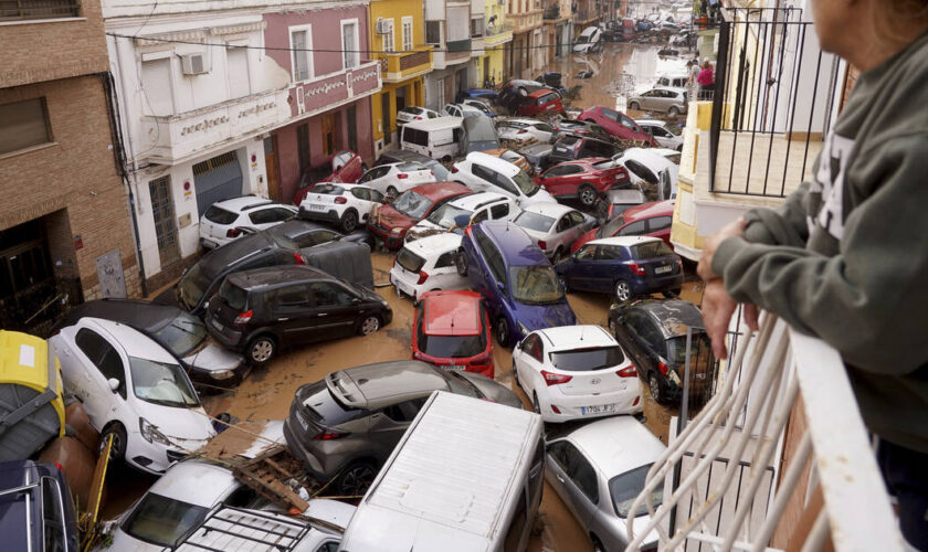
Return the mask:
[[[801,437],[780,471],[788,422]],[[717,394],[654,463],[631,511],[642,505],[651,519],[640,531],[629,519],[626,552],[655,530],[665,551],[774,551],[787,540],[803,552],[829,540],[837,551],[905,550],[837,351],[770,315],[741,338]]]

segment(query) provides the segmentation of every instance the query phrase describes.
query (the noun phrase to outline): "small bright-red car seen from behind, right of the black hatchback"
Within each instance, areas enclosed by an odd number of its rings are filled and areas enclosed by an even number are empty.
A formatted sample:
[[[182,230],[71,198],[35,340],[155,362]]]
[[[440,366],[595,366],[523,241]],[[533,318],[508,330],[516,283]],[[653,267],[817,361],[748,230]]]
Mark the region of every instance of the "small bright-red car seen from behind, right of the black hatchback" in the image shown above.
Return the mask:
[[[415,309],[412,358],[493,379],[489,315],[475,291],[429,291]]]

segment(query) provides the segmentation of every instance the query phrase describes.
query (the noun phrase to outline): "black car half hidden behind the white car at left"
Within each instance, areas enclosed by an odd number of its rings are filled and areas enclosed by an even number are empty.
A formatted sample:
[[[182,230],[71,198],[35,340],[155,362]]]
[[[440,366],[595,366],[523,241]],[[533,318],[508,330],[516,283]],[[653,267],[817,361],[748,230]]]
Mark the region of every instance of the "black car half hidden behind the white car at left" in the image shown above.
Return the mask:
[[[228,386],[242,381],[249,370],[241,354],[210,338],[203,321],[172,306],[135,299],[99,299],[68,310],[55,329],[73,326],[84,317],[125,323],[171,352],[196,383]]]

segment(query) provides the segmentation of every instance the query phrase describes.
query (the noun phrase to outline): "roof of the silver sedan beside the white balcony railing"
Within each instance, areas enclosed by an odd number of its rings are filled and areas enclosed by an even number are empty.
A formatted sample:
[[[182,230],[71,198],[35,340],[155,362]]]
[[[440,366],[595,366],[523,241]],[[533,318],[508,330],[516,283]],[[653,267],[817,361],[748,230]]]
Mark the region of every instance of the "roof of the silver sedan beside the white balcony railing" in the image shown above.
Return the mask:
[[[652,464],[667,449],[632,416],[612,416],[567,435],[607,479]]]

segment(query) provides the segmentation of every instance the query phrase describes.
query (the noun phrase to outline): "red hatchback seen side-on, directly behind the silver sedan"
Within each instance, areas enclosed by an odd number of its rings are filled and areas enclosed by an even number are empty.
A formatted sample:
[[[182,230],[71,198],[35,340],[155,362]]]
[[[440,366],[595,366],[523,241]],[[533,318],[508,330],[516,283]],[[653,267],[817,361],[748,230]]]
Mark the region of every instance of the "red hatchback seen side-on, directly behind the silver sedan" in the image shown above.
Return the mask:
[[[589,208],[595,204],[600,194],[630,180],[629,171],[615,161],[588,157],[556,164],[535,181],[557,199],[577,198]]]

